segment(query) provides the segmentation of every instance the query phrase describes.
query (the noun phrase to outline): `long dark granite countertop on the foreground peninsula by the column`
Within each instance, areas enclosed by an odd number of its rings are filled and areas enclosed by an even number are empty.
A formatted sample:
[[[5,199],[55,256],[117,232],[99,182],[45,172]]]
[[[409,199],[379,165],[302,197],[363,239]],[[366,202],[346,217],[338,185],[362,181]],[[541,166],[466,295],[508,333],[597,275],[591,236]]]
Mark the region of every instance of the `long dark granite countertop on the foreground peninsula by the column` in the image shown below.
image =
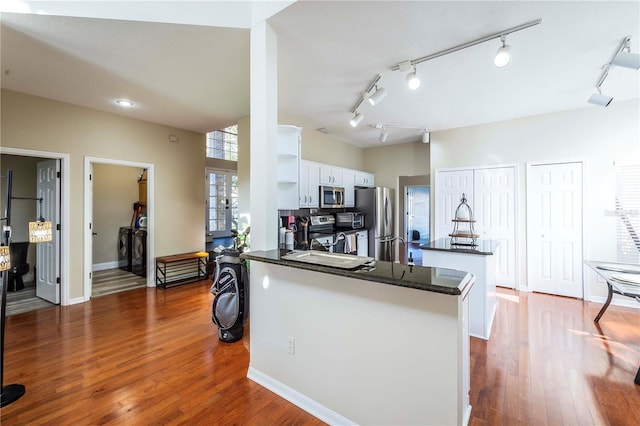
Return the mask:
[[[467,276],[466,272],[453,269],[430,268],[377,260],[373,267],[365,266],[360,269],[349,270],[283,259],[281,256],[287,253],[290,253],[290,250],[251,251],[243,253],[241,257],[296,269],[306,269],[308,271],[450,295],[464,294],[471,287],[469,283],[471,274]]]

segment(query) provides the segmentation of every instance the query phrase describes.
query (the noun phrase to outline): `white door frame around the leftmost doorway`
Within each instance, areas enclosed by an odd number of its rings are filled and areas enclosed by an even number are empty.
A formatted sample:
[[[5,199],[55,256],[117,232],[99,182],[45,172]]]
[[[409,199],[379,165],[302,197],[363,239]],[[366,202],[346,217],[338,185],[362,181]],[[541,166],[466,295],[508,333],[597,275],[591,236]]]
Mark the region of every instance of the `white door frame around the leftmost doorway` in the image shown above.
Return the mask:
[[[69,206],[71,190],[70,155],[62,152],[37,151],[33,149],[10,148],[0,146],[0,154],[19,155],[23,157],[39,157],[60,161],[60,305],[66,306],[81,303],[81,300],[69,298]]]

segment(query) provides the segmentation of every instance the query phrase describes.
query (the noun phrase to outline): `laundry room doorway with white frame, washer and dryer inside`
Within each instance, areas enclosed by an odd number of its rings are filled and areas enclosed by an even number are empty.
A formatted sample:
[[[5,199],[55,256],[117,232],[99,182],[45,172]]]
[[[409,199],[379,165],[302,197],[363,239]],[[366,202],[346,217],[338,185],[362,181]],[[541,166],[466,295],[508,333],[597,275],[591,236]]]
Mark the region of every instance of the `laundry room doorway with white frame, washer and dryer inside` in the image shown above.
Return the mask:
[[[95,170],[94,170],[95,168]],[[110,174],[109,174],[110,173]],[[131,181],[129,185],[129,191],[131,194],[128,196],[122,196],[120,193],[122,188],[112,188],[112,190],[105,192],[105,184],[108,186],[111,178],[108,176],[123,177],[127,181]],[[146,178],[146,192],[143,195],[140,188],[140,180],[142,176]],[[96,180],[94,181],[94,176]],[[102,181],[98,182],[98,179]],[[106,177],[105,177],[106,176]],[[130,178],[130,179],[129,179]],[[92,297],[93,292],[93,280],[100,280],[103,282],[103,276],[100,271],[111,269],[116,272],[120,271],[122,262],[126,262],[125,258],[120,255],[119,244],[121,242],[120,232],[121,228],[129,228],[130,234],[125,237],[124,244],[126,246],[126,255],[131,256],[130,271],[126,271],[126,268],[122,269],[124,276],[114,276],[114,279],[124,282],[126,280],[129,284],[135,285],[135,282],[139,282],[142,278],[147,287],[155,286],[155,259],[153,250],[153,225],[154,225],[154,197],[153,197],[153,178],[154,167],[150,163],[138,163],[131,161],[113,160],[106,158],[94,158],[85,157],[85,188],[84,188],[84,216],[85,216],[85,231],[84,231],[84,298],[89,300]],[[107,182],[105,182],[105,180]],[[98,191],[102,191],[102,196],[116,197],[118,201],[113,203],[105,203],[104,206],[96,206],[96,199],[94,198],[94,186]],[[144,196],[146,200],[140,200]],[[114,198],[115,200],[115,198]],[[104,200],[99,200],[104,201]],[[100,202],[98,202],[100,204]],[[140,210],[134,211],[134,205],[140,206]],[[105,215],[104,212],[98,211],[102,208],[116,208],[120,209],[116,221],[112,221],[112,217]],[[138,217],[140,215],[140,217]],[[144,222],[139,219],[144,215]],[[96,222],[97,221],[97,222]],[[97,226],[96,226],[97,225]],[[127,242],[127,238],[131,239],[130,244]],[[106,250],[110,254],[110,258],[100,257],[102,253],[94,253],[96,247],[94,247],[94,239],[105,239],[104,244],[98,245],[98,248],[106,246]],[[97,264],[94,263],[94,259],[101,259]],[[128,274],[128,273],[131,274]],[[94,277],[94,273],[96,274]],[[131,275],[131,276],[129,276]],[[135,277],[137,275],[137,277]],[[117,288],[112,289],[117,291]],[[110,290],[111,291],[111,290]],[[100,293],[102,294],[102,293]],[[106,293],[104,293],[106,294]]]

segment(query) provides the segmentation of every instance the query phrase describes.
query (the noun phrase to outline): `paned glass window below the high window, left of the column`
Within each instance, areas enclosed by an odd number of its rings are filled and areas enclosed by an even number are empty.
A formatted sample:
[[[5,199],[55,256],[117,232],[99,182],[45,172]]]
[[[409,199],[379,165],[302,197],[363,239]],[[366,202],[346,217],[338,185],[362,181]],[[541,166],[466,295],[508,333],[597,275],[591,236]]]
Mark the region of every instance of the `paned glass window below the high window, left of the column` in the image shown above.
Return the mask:
[[[238,229],[238,176],[228,170],[207,169],[207,234],[228,237]]]

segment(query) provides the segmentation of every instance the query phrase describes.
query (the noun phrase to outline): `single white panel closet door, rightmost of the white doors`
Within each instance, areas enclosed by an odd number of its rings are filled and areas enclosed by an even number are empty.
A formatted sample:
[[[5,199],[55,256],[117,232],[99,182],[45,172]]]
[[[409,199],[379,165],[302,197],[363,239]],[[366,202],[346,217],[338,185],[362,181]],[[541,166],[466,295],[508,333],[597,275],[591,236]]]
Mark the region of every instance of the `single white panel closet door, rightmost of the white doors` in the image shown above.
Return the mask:
[[[582,163],[527,171],[527,279],[531,291],[583,297]]]

